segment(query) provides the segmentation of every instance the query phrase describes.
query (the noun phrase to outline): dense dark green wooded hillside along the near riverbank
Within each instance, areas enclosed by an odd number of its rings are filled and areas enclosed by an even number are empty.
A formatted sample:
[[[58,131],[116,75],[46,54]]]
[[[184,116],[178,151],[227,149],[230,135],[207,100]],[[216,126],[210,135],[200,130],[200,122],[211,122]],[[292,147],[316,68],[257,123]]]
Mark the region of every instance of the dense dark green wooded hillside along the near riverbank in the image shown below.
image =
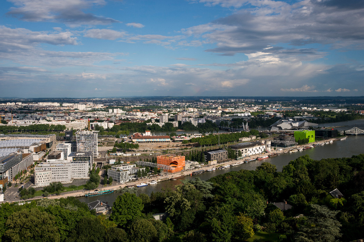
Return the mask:
[[[329,193],[336,188],[344,197]],[[335,242],[364,237],[364,154],[320,161],[306,155],[281,172],[263,162],[256,170],[208,181],[182,180],[150,196],[136,191],[120,188],[109,217],[96,216],[74,197],[3,203],[1,241]],[[284,201],[292,209],[274,205]],[[163,222],[151,216],[165,212],[169,217]]]

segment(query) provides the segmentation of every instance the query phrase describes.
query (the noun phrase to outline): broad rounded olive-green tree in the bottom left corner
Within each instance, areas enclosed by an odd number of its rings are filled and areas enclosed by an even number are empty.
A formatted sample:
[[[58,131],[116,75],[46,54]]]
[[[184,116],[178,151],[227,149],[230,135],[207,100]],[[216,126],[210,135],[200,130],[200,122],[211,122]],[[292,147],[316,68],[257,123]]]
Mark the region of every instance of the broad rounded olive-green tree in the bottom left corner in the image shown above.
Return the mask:
[[[60,241],[58,227],[54,226],[54,215],[40,211],[37,207],[12,213],[7,221],[5,241]]]

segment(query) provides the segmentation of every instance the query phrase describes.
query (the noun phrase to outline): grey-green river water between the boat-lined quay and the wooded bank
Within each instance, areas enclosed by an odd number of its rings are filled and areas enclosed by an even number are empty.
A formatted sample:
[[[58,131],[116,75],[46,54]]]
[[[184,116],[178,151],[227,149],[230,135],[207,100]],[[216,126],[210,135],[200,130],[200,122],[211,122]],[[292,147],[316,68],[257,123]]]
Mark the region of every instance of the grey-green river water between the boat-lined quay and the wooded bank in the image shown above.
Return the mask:
[[[329,123],[329,124],[320,124],[320,126],[332,127],[332,126],[343,126],[336,128],[338,130],[349,130],[353,127],[358,127],[364,130],[364,119],[361,120],[352,120],[352,121],[344,121],[337,123]],[[270,162],[273,165],[276,165],[277,170],[281,171],[283,166],[287,165],[290,161],[308,154],[310,158],[314,160],[321,160],[323,158],[340,158],[340,157],[351,157],[353,155],[358,155],[364,153],[364,135],[358,136],[348,136],[346,140],[342,141],[334,141],[333,143],[316,146],[313,149],[303,150],[294,153],[285,153],[280,156],[267,158],[260,161],[253,161],[249,163],[244,163],[238,166],[231,166],[228,169],[223,170],[215,170],[213,172],[205,172],[198,176],[186,176],[185,178],[181,178],[177,181],[169,180],[159,182],[156,185],[148,185],[145,187],[139,187],[137,190],[137,194],[146,193],[148,195],[151,194],[152,191],[161,191],[163,187],[166,186],[175,186],[181,183],[182,179],[194,179],[195,177],[201,178],[201,180],[209,180],[211,177],[217,176],[219,174],[223,174],[226,172],[230,172],[233,170],[255,170],[257,166],[260,166],[263,162]],[[79,197],[79,200],[82,202],[93,202],[96,200],[102,200],[104,202],[108,202],[108,204],[112,204],[118,193],[111,193],[106,195],[99,195],[95,197]]]

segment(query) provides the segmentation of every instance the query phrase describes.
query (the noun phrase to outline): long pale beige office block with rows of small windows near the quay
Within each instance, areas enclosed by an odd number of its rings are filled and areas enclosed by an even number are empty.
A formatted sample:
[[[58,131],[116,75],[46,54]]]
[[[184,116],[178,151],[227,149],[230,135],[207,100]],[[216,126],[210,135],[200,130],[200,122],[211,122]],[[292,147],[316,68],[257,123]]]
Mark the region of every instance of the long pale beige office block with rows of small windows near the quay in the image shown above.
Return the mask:
[[[87,161],[41,162],[34,169],[34,184],[48,186],[50,182],[71,182],[74,178],[88,178],[88,167]]]

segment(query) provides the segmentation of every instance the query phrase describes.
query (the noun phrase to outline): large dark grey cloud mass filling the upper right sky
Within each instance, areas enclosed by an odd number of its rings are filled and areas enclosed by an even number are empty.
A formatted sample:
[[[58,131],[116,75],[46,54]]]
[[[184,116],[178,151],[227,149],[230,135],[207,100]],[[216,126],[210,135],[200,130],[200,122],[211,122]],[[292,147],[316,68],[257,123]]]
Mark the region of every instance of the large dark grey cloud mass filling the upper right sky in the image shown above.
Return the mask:
[[[273,48],[277,43],[292,46],[306,44],[330,44],[332,48],[363,49],[364,4],[345,2],[342,7],[334,0],[284,1],[257,0],[201,0],[207,5],[237,8],[230,16],[211,23],[182,29],[186,36],[202,37],[216,48],[207,52],[234,55],[235,53],[269,52],[282,56],[281,49]],[[355,7],[353,7],[355,5]],[[243,9],[239,9],[244,7]],[[321,51],[311,49],[310,53],[296,51],[291,54],[310,55],[321,58]],[[296,53],[294,53],[296,52]]]

